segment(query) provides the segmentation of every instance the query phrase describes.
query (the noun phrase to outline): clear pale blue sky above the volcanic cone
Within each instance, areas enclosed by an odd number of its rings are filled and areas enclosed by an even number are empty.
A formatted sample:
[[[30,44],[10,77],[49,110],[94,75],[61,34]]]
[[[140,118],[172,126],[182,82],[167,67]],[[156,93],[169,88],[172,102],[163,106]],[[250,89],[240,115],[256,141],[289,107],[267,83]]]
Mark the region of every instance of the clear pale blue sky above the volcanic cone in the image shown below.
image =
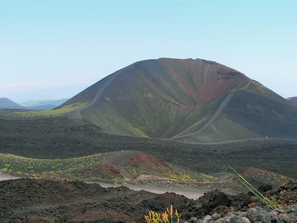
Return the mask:
[[[296,0],[1,0],[0,98],[73,97],[131,63],[214,60],[297,96]]]

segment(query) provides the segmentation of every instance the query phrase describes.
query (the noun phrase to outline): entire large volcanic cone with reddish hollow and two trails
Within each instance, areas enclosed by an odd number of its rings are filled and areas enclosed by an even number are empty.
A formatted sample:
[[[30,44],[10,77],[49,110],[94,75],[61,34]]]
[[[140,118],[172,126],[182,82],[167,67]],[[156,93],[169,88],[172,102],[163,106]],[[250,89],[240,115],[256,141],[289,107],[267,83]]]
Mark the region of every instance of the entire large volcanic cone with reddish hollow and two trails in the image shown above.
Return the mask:
[[[277,137],[284,134],[277,133],[275,126],[284,126],[283,121],[297,124],[293,118],[297,109],[281,96],[232,68],[202,59],[136,62],[103,78],[61,107],[87,101],[91,103],[73,117],[89,120],[109,132],[142,137],[188,141],[185,135],[195,134],[194,139],[192,135],[189,139],[193,142],[272,133]],[[240,103],[247,107],[243,117],[236,113],[243,106]],[[264,109],[258,109],[261,106]],[[279,111],[281,106],[284,108]],[[253,114],[261,116],[264,123],[255,123]],[[271,120],[276,122],[266,126]],[[222,126],[214,128],[219,121]],[[236,134],[231,134],[234,129]],[[296,129],[288,135],[293,136],[297,136]]]

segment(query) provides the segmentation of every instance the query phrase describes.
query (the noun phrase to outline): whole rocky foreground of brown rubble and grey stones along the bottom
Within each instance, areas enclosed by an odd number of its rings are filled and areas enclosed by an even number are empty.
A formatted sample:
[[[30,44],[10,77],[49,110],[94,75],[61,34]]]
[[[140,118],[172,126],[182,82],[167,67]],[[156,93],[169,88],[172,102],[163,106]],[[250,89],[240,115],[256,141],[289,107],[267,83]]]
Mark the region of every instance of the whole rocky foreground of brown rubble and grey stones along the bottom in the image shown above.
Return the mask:
[[[213,190],[193,200],[175,193],[103,188],[81,181],[4,180],[0,181],[0,222],[145,223],[149,211],[163,213],[172,204],[181,214],[181,223],[296,223],[297,181],[270,189],[268,185],[259,191],[273,197],[282,209],[269,210],[251,193]]]

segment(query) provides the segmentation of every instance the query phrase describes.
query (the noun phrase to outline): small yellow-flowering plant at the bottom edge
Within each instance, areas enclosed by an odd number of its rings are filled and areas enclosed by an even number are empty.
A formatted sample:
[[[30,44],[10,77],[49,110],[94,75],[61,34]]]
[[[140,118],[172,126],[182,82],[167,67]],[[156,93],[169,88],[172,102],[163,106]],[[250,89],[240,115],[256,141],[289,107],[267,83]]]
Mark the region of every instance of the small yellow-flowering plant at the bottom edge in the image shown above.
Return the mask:
[[[169,222],[169,216],[170,216],[170,222]],[[175,213],[173,213],[173,206],[170,205],[170,211],[167,210],[163,214],[158,214],[156,212],[150,211],[148,215],[145,215],[145,219],[147,223],[173,223],[173,217],[176,216],[177,222],[179,223],[179,219],[181,215],[178,214],[177,210],[175,210]]]

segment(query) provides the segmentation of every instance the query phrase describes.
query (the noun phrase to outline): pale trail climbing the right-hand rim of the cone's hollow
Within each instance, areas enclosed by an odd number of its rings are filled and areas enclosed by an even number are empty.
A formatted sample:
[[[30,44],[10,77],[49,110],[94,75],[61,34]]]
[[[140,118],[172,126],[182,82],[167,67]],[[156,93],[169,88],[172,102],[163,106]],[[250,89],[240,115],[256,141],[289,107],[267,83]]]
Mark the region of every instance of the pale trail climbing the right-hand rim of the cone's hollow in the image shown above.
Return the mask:
[[[250,80],[247,85],[245,87],[242,88],[238,88],[238,89],[234,89],[230,92],[230,94],[227,96],[227,98],[220,104],[220,107],[218,108],[217,111],[214,112],[214,114],[211,116],[211,118],[209,118],[209,120],[201,127],[199,128],[197,131],[192,132],[190,134],[187,135],[182,135],[182,136],[178,136],[178,137],[174,137],[173,139],[179,139],[179,138],[183,138],[186,136],[192,136],[195,135],[201,131],[203,131],[204,129],[206,129],[212,122],[214,122],[214,120],[220,115],[220,113],[222,113],[222,111],[226,108],[226,106],[228,105],[228,103],[230,102],[232,96],[234,95],[234,92],[242,90],[242,89],[247,89],[247,87],[252,83],[252,80]],[[192,128],[193,126],[195,126],[197,123],[191,125],[189,128],[187,128],[185,131],[187,131],[188,129]]]

